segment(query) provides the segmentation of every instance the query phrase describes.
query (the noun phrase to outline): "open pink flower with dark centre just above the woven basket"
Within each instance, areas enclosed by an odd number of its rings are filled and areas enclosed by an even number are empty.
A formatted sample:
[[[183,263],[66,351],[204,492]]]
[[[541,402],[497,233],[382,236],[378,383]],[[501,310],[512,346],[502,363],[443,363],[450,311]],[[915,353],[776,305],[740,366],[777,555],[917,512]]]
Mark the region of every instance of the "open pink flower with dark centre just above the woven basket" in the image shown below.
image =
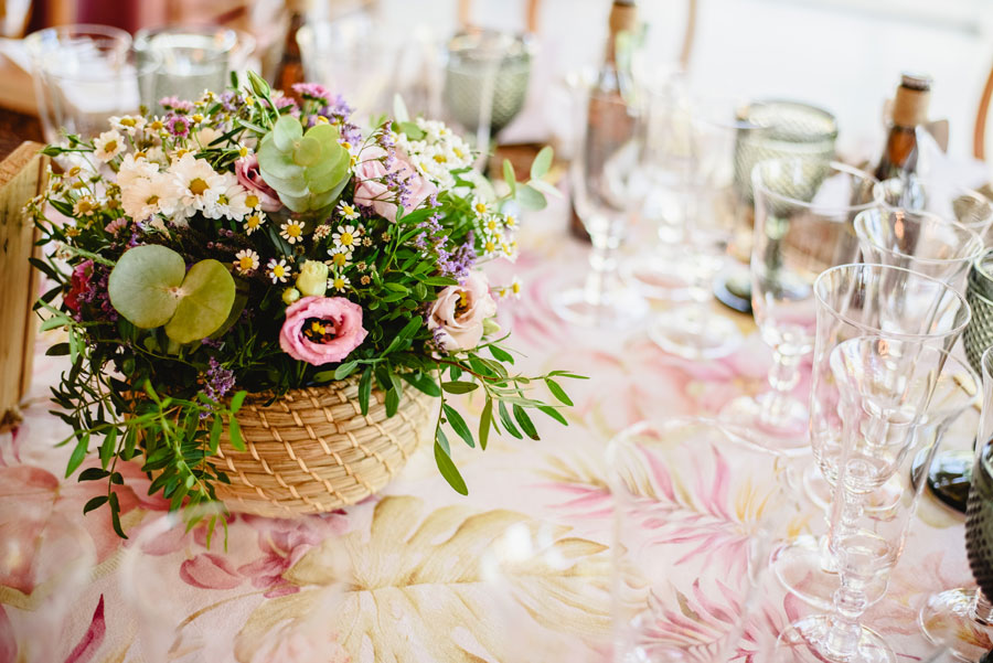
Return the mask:
[[[295,360],[320,366],[349,356],[366,333],[359,304],[344,297],[305,297],[286,309],[279,346]]]

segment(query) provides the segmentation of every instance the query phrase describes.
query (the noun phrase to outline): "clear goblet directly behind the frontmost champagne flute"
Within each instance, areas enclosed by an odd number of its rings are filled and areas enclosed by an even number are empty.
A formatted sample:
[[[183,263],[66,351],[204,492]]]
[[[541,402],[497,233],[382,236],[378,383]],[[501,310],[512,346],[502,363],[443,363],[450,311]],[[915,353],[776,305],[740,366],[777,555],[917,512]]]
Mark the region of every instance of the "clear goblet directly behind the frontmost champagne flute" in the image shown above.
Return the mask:
[[[948,353],[969,324],[970,309],[965,298],[947,284],[886,265],[833,267],[818,277],[813,291],[818,307],[810,389],[814,463],[802,484],[815,503],[830,510],[836,474],[833,459],[840,455],[843,432],[831,351],[847,339],[885,333]],[[885,495],[874,502],[885,506],[890,501]],[[837,587],[837,567],[828,543],[828,537],[798,537],[772,555],[772,570],[780,582],[814,606],[824,606]]]

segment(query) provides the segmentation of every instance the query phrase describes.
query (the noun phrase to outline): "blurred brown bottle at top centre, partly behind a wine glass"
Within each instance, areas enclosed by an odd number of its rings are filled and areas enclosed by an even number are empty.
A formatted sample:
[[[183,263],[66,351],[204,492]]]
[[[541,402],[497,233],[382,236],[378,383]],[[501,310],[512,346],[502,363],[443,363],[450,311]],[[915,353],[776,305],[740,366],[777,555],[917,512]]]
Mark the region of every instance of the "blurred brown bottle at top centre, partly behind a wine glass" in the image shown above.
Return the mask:
[[[630,118],[617,113],[617,101],[624,99],[631,86],[628,63],[631,38],[638,28],[638,7],[634,0],[613,0],[607,23],[607,49],[604,64],[597,72],[596,83],[590,90],[587,122],[600,126],[605,137],[611,132],[611,126],[616,127],[615,132],[623,136],[624,122],[629,122]],[[576,214],[575,205],[569,218],[569,232],[577,238],[589,242],[589,233]]]

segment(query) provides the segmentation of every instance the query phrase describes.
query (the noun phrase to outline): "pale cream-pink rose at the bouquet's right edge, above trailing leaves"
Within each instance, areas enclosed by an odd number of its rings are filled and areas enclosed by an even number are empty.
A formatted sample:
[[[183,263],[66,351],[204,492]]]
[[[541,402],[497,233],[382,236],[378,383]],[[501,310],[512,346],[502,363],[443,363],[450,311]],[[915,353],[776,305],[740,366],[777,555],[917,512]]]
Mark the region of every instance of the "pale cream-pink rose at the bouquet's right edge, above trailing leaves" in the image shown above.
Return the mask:
[[[448,286],[428,312],[428,329],[445,350],[471,350],[482,340],[483,320],[496,314],[487,277],[478,271],[460,286]]]

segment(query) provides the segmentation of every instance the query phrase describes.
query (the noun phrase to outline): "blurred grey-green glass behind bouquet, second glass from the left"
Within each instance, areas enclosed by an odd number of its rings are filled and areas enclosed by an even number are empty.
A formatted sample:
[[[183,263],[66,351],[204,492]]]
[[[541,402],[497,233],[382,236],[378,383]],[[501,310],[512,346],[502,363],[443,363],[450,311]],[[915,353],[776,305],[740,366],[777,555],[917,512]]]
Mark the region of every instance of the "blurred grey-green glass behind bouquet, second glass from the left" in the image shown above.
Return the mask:
[[[164,109],[159,99],[163,97],[197,99],[205,89],[224,89],[239,52],[252,47],[242,43],[243,39],[227,28],[139,30],[135,34],[138,64],[153,63],[150,83],[141,90],[141,104],[161,114]]]

